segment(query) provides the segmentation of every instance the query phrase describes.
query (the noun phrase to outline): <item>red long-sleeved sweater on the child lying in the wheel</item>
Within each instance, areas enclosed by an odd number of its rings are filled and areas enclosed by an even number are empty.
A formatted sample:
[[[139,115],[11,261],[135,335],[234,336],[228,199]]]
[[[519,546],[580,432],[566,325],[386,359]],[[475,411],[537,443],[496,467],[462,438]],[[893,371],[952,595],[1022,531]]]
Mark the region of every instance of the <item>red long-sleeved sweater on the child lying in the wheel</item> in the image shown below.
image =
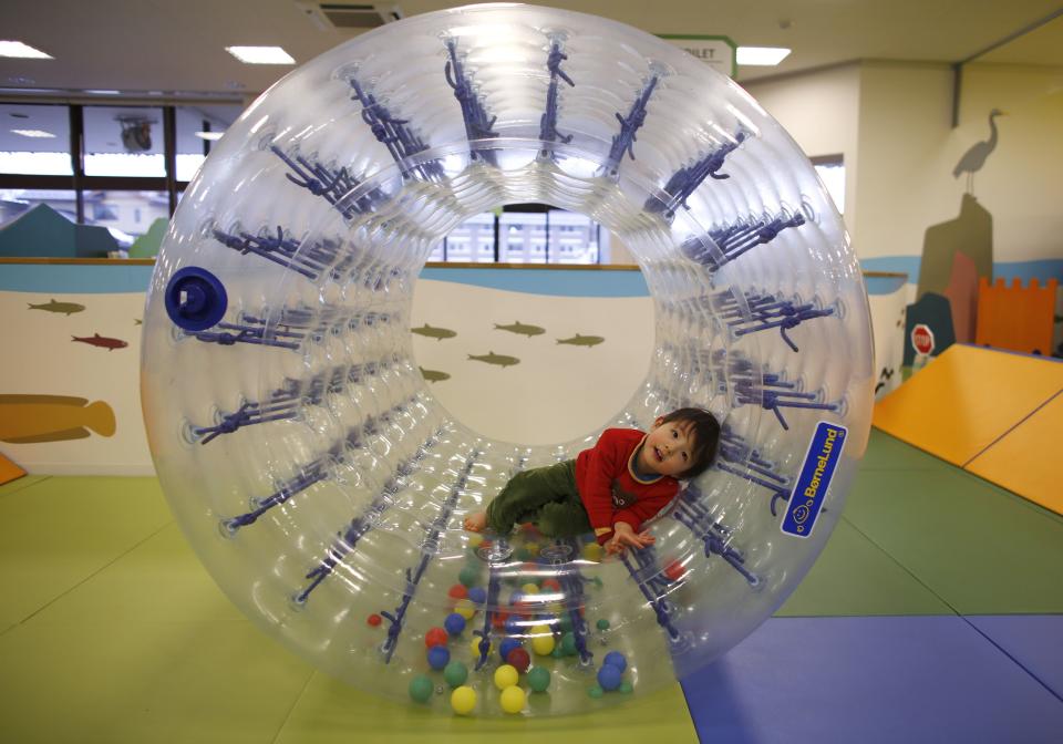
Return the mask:
[[[626,521],[642,531],[642,523],[654,517],[675,498],[679,480],[659,475],[650,480],[636,477],[631,461],[646,434],[633,428],[607,428],[598,444],[576,457],[576,487],[598,535],[598,542],[612,537],[613,525]]]

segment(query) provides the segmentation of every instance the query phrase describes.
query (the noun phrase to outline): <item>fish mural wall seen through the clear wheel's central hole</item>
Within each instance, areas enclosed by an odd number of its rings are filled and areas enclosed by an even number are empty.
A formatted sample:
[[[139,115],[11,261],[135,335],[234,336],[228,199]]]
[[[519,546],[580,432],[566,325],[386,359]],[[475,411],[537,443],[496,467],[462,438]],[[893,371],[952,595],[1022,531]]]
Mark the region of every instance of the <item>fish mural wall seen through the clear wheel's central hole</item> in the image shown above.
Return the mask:
[[[504,286],[487,277],[502,271]],[[437,280],[417,283],[411,317],[421,374],[447,411],[486,436],[582,436],[646,376],[653,306],[638,271],[572,271],[582,289],[550,270],[482,272],[484,281],[453,269],[425,273]]]

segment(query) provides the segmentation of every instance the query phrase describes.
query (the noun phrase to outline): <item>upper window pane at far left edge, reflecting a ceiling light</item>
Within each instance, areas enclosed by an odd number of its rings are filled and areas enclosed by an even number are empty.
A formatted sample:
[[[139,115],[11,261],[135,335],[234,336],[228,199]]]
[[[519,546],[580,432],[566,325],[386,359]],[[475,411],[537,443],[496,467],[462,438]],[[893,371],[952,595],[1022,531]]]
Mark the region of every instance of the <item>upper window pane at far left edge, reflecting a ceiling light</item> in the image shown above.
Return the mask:
[[[0,103],[0,173],[73,175],[68,107]]]

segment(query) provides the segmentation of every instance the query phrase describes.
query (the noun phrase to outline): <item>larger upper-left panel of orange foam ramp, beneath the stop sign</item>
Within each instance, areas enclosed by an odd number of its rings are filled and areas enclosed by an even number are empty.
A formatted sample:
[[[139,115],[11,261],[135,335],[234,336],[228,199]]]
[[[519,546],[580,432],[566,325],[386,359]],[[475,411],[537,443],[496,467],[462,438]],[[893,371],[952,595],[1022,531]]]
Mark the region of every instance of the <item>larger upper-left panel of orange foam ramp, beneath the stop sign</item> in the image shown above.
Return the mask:
[[[875,405],[873,423],[964,467],[1063,390],[1063,363],[953,344]]]

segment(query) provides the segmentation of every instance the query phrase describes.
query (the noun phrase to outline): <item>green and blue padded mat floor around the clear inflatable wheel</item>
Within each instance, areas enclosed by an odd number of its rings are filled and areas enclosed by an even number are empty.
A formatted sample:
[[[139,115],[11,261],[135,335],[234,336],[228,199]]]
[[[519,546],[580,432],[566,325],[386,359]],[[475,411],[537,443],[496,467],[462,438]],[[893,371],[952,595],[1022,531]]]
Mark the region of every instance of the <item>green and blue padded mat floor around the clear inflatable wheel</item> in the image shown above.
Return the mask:
[[[1063,741],[1063,518],[875,431],[776,617],[699,674],[561,719],[431,715],[234,609],[153,478],[0,486],[0,742]]]

